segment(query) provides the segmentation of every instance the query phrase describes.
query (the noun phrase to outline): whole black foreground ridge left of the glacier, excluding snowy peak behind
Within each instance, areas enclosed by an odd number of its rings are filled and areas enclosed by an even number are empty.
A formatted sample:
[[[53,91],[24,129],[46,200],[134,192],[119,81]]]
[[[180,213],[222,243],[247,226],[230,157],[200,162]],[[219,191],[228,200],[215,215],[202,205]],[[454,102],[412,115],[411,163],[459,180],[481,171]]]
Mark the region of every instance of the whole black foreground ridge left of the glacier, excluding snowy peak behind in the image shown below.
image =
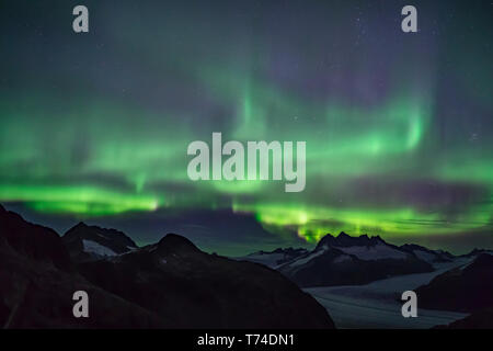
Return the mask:
[[[77,231],[72,240],[88,235],[81,225]],[[278,272],[207,254],[181,236],[78,263],[54,230],[1,206],[0,281],[7,328],[334,327],[314,298]],[[90,318],[72,316],[79,290],[90,296]]]

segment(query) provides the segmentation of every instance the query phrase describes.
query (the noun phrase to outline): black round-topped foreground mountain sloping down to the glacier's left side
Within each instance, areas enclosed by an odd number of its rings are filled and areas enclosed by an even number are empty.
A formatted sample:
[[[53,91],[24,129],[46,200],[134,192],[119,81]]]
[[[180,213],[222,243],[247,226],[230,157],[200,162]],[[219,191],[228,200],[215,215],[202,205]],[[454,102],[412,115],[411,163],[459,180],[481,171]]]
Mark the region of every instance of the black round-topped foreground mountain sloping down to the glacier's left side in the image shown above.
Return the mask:
[[[333,327],[325,309],[278,272],[205,253],[174,234],[137,251],[80,264],[80,271],[176,327]]]

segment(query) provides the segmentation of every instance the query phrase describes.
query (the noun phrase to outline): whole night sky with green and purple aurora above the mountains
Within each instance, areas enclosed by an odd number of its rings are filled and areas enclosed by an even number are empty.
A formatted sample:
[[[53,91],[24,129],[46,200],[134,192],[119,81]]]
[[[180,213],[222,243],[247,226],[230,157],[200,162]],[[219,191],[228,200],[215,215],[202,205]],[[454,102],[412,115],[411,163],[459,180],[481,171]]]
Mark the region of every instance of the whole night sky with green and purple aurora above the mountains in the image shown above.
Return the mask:
[[[229,236],[204,229],[227,252],[250,250],[244,216],[252,248],[341,230],[493,246],[491,2],[414,1],[417,33],[401,1],[80,3],[87,34],[79,2],[0,4],[5,206],[163,231],[228,213]],[[187,145],[214,132],[306,141],[305,191],[191,181]]]

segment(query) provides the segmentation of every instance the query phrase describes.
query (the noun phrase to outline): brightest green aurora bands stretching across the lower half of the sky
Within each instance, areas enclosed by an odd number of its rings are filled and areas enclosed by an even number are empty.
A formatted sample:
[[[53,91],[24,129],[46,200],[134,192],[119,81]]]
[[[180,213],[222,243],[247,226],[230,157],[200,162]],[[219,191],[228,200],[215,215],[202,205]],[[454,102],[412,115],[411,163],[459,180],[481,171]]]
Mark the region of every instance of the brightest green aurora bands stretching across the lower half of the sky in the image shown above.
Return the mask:
[[[261,125],[274,131],[270,134],[272,139],[307,140],[305,192],[286,194],[279,182],[272,181],[190,181],[186,176],[186,145],[199,136],[186,125],[167,118],[159,120],[162,125],[154,128],[146,124],[146,114],[127,106],[118,109],[103,102],[91,107],[64,106],[62,111],[67,111],[64,117],[48,126],[48,129],[62,129],[62,135],[46,136],[39,131],[46,129],[51,120],[44,116],[55,112],[44,111],[42,104],[36,106],[36,102],[26,106],[9,99],[1,104],[1,139],[11,151],[0,156],[0,201],[23,202],[38,212],[70,213],[82,218],[156,211],[159,207],[229,206],[234,212],[254,214],[270,231],[294,229],[310,242],[337,230],[387,236],[450,234],[481,228],[491,220],[489,203],[474,204],[457,214],[454,220],[448,219],[447,226],[439,222],[445,218],[444,214],[420,212],[406,204],[395,206],[388,203],[375,207],[360,204],[364,200],[358,200],[358,194],[353,194],[355,199],[345,204],[346,192],[341,190],[351,186],[349,181],[360,174],[383,179],[392,174],[393,180],[402,178],[405,182],[409,172],[420,170],[423,179],[454,182],[474,179],[491,189],[492,169],[486,159],[474,160],[459,169],[449,165],[420,169],[421,146],[433,117],[429,103],[401,95],[364,111],[335,103],[326,106],[295,104],[277,92],[276,98],[280,102],[274,105],[280,106],[277,112],[279,120],[288,111],[317,118],[316,128],[310,124],[293,128],[275,125],[275,118],[262,113],[274,110],[268,105],[272,97],[260,93],[256,98],[249,92],[238,100],[238,114],[233,116],[237,123],[229,133],[231,139],[255,139],[255,126]],[[19,111],[19,105],[26,110]],[[139,128],[134,122],[137,115]],[[84,123],[80,125],[82,116]],[[101,128],[99,121],[103,116],[105,121],[111,120],[106,122],[111,128]],[[359,126],[356,134],[355,125]],[[317,129],[314,135],[313,128]],[[74,140],[81,133],[90,140],[87,144],[89,149],[84,151],[84,161],[74,165]],[[19,135],[23,137],[19,138]],[[203,139],[210,139],[210,135],[204,134]],[[118,186],[104,184],[98,174],[119,180]],[[50,179],[60,181],[50,182]],[[73,181],[76,179],[81,181]],[[320,179],[324,182],[320,183]],[[191,189],[185,192],[171,188],[159,190],[160,183],[183,184]],[[311,201],[313,188],[319,188],[314,192],[322,191],[326,199]],[[225,195],[231,201],[221,203]],[[437,220],[436,226],[423,225],[432,220]]]

